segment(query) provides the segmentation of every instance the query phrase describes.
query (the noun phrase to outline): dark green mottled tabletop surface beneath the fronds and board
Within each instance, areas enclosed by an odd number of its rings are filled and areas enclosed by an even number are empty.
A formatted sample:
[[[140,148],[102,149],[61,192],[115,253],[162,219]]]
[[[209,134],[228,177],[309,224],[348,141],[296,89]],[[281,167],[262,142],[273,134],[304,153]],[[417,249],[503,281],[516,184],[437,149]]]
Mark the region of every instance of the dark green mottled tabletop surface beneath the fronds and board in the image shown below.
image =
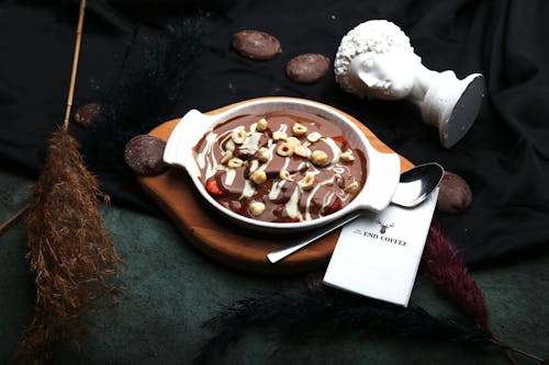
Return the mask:
[[[32,181],[0,172],[0,221],[29,201]],[[125,260],[120,305],[86,320],[92,332],[55,347],[53,364],[189,364],[213,334],[202,323],[250,296],[306,290],[306,275],[266,277],[227,269],[200,253],[167,220],[115,205],[101,213]],[[0,236],[0,364],[12,363],[33,315],[34,286],[24,258],[22,219]],[[549,254],[472,272],[483,290],[492,330],[517,349],[549,357]],[[457,316],[428,278],[418,275],[412,303],[432,315]],[[519,364],[535,364],[515,355]],[[495,347],[381,334],[334,332],[288,341],[255,328],[215,357],[215,364],[507,364]]]

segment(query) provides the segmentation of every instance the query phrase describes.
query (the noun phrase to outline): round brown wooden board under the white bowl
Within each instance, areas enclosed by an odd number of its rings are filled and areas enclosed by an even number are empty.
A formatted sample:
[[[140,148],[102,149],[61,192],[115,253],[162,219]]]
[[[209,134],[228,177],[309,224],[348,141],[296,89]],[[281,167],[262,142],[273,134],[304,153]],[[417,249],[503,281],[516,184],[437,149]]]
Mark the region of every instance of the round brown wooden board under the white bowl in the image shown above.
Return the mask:
[[[208,114],[221,113],[237,104],[228,105]],[[339,111],[339,113],[343,113]],[[345,113],[344,113],[345,114]],[[347,114],[346,114],[347,115]],[[367,127],[352,116],[347,115],[368,137],[370,144],[381,152],[393,152]],[[168,140],[179,119],[166,122],[149,135]],[[401,157],[401,170],[413,164]],[[188,178],[186,171],[170,168],[156,176],[138,176],[142,187],[166,212],[186,238],[200,251],[212,259],[247,272],[261,274],[296,274],[325,269],[339,236],[332,232],[293,255],[272,264],[266,255],[281,246],[288,244],[293,237],[272,236],[244,229],[228,221],[209,208]]]

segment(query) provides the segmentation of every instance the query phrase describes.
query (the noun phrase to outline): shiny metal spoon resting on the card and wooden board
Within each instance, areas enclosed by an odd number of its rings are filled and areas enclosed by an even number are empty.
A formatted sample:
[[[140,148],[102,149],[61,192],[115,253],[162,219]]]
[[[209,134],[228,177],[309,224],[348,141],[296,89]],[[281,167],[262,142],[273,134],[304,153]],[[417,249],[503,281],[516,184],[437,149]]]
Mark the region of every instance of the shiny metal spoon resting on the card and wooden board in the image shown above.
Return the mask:
[[[414,207],[425,201],[430,193],[438,186],[442,180],[445,170],[436,162],[416,166],[415,168],[401,174],[399,185],[394,192],[391,203],[403,206]],[[270,262],[276,263],[290,254],[301,250],[305,246],[316,241],[318,238],[324,237],[336,228],[358,218],[361,212],[354,212],[336,221],[333,221],[321,230],[315,230],[305,237],[300,238],[292,244],[282,247],[267,254]]]

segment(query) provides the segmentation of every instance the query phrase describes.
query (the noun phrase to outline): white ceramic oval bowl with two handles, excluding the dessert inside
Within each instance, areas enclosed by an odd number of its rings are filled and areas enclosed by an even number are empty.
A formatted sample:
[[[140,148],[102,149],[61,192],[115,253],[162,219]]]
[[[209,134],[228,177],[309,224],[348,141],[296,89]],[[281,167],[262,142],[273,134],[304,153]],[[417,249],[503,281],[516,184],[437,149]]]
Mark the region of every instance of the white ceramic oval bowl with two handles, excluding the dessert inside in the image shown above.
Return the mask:
[[[200,170],[193,157],[193,147],[216,124],[245,114],[264,114],[276,111],[300,111],[321,115],[335,123],[343,130],[344,138],[362,150],[367,159],[367,179],[358,195],[344,208],[327,216],[299,223],[271,223],[244,217],[219,204],[200,181]],[[188,112],[171,133],[164,160],[169,164],[184,168],[197,191],[211,207],[217,209],[234,223],[264,232],[288,233],[310,230],[357,210],[384,209],[394,194],[400,178],[400,159],[396,153],[381,153],[376,150],[358,126],[345,114],[322,103],[294,98],[261,98],[238,103],[220,114],[206,115],[197,110]]]

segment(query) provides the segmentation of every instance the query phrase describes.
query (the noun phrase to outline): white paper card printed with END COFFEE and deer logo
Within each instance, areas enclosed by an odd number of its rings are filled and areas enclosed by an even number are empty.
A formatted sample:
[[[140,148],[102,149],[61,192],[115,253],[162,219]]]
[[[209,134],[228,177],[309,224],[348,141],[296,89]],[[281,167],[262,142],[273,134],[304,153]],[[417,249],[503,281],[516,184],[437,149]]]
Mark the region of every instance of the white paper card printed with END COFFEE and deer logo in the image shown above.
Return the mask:
[[[427,239],[438,189],[421,205],[365,213],[339,235],[324,283],[407,306]]]

